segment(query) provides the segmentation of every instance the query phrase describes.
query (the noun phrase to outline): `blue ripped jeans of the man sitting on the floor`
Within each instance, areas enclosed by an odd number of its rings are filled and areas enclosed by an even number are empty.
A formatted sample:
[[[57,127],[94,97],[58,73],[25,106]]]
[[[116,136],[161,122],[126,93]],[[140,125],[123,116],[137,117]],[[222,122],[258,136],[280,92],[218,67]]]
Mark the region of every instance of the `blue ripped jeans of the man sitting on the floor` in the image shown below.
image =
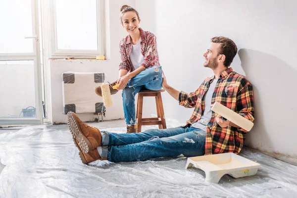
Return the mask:
[[[101,132],[101,157],[107,157],[111,162],[204,155],[206,132],[194,127],[149,129],[131,134]]]

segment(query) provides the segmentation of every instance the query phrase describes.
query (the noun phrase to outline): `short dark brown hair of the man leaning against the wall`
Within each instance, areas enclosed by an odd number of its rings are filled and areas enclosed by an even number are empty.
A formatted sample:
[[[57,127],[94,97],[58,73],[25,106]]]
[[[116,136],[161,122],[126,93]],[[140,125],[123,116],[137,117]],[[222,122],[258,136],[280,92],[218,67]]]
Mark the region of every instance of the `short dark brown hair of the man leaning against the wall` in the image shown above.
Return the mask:
[[[221,49],[218,50],[219,54],[224,54],[226,56],[224,65],[229,67],[237,53],[237,46],[235,43],[226,37],[213,37],[210,40],[212,43],[219,43]]]

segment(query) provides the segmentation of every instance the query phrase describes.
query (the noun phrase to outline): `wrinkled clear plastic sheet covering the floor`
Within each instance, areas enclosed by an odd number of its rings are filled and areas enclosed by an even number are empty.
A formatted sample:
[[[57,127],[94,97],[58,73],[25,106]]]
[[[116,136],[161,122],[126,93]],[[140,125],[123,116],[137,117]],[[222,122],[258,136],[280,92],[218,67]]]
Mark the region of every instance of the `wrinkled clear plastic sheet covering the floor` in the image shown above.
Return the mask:
[[[186,157],[111,163],[81,162],[70,132],[24,128],[0,133],[0,198],[296,198],[297,166],[244,148],[261,164],[254,176],[205,183]],[[125,128],[106,131],[123,133]]]

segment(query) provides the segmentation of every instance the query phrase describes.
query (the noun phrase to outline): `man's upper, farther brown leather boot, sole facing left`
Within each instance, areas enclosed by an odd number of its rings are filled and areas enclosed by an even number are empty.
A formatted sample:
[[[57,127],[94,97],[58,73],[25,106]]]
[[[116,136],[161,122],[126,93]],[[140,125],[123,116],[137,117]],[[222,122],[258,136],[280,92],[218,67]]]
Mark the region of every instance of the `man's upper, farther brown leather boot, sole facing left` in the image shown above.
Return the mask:
[[[67,123],[73,139],[78,141],[78,147],[83,152],[90,152],[101,145],[102,136],[99,129],[87,125],[75,113],[67,113]]]

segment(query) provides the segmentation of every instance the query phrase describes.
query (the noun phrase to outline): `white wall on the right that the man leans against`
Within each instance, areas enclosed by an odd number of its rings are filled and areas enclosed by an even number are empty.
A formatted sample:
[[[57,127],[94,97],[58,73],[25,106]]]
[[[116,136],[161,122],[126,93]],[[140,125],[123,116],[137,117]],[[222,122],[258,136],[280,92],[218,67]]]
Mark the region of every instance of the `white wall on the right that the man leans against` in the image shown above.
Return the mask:
[[[142,4],[136,0],[136,4]],[[195,91],[211,75],[202,54],[210,38],[225,36],[238,46],[232,67],[254,89],[255,125],[246,144],[270,153],[297,157],[297,13],[295,0],[155,0],[138,6],[157,36],[168,84]],[[146,7],[155,7],[151,12]],[[144,20],[142,21],[145,22]],[[144,26],[144,24],[142,24]],[[163,95],[167,117],[185,122],[193,109]]]

